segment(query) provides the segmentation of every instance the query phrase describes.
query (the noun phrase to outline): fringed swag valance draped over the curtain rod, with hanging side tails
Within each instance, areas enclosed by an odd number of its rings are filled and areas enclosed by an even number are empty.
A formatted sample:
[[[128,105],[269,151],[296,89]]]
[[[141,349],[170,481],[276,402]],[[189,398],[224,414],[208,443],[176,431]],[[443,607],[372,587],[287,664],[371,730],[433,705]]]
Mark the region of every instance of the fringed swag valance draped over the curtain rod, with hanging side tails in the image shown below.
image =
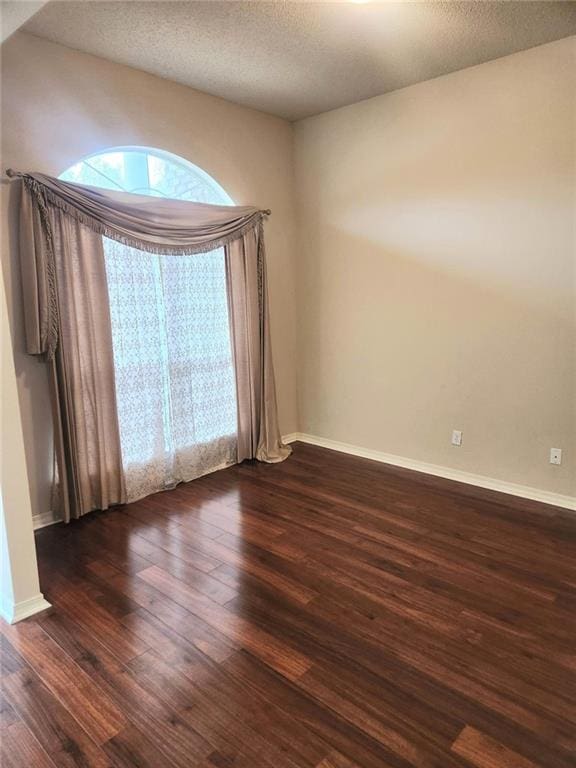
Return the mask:
[[[54,218],[69,216],[96,234],[149,253],[206,253],[245,234],[256,234],[262,290],[264,234],[270,211],[251,206],[206,205],[114,192],[60,181],[42,173],[16,174],[23,181],[20,238],[27,351],[52,356],[57,343]],[[35,279],[37,278],[37,280]],[[34,307],[36,312],[28,311]]]

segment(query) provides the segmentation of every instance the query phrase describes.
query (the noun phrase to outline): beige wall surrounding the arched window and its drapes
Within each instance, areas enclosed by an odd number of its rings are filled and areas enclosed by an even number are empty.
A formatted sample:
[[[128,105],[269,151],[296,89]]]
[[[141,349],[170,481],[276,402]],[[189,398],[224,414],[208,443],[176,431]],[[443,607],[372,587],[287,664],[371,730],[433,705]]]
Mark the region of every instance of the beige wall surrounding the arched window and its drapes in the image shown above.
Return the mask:
[[[17,33],[2,45],[2,169],[58,175],[111,146],[159,147],[201,166],[267,224],[271,325],[280,423],[297,429],[292,127],[168,80]],[[4,187],[6,189],[6,187]],[[3,195],[2,256],[34,514],[49,506],[46,371],[23,352],[14,201]],[[12,226],[6,226],[11,220]]]

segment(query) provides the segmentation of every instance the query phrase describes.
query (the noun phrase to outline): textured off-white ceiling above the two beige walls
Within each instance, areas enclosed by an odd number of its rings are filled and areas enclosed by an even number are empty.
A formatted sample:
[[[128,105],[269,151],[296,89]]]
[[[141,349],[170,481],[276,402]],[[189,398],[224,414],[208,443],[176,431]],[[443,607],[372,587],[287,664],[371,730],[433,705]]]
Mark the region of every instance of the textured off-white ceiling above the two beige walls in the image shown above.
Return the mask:
[[[576,34],[576,2],[77,2],[24,27],[289,120]]]

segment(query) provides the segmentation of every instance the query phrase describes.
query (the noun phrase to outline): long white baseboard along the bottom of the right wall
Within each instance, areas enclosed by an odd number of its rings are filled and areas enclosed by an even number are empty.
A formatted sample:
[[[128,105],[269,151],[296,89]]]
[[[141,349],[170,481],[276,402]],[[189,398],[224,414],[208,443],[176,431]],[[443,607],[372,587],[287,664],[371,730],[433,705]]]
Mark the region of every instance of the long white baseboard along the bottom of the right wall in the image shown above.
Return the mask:
[[[340,443],[337,440],[330,440],[327,437],[317,437],[316,435],[308,435],[304,432],[292,432],[289,435],[284,435],[282,439],[285,443],[293,443],[296,440],[300,440],[303,443],[318,445],[321,448],[330,448],[333,451],[348,453],[351,456],[361,456],[363,459],[372,459],[373,461],[380,461],[383,464],[392,464],[395,467],[403,467],[404,469],[412,469],[416,472],[424,472],[427,475],[443,477],[446,480],[455,480],[459,483],[467,483],[468,485],[487,488],[491,491],[508,493],[512,496],[520,496],[523,499],[541,501],[544,504],[552,504],[556,507],[576,510],[576,498],[573,496],[562,496],[559,493],[543,491],[539,488],[531,488],[527,485],[507,483],[504,480],[496,480],[493,477],[485,477],[484,475],[475,475],[471,472],[463,472],[459,469],[442,467],[438,464],[427,464],[423,461],[407,459],[404,456],[395,456],[391,453],[382,453],[381,451],[373,451],[369,448],[360,448],[357,445]]]

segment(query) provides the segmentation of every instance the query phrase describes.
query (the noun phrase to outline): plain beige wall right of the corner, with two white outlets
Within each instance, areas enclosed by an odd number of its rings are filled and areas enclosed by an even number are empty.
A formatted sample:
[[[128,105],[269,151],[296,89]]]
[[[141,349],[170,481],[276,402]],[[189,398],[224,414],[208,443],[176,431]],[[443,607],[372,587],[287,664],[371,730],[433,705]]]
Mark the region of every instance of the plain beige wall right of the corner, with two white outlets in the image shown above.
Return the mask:
[[[575,98],[569,38],[297,124],[303,432],[575,494]]]

